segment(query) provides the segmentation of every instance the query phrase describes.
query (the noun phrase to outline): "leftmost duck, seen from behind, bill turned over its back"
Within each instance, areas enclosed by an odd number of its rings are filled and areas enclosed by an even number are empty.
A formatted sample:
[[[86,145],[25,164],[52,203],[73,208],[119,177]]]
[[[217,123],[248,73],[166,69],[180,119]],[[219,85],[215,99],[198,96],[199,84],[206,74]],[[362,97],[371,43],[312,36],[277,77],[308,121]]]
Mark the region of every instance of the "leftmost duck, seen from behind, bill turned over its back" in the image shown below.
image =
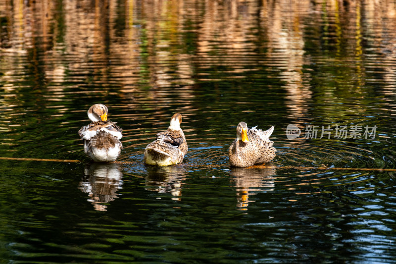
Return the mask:
[[[102,104],[95,104],[88,109],[91,124],[78,131],[84,141],[84,152],[94,161],[115,161],[121,153],[122,128],[117,122],[107,120],[108,109]]]

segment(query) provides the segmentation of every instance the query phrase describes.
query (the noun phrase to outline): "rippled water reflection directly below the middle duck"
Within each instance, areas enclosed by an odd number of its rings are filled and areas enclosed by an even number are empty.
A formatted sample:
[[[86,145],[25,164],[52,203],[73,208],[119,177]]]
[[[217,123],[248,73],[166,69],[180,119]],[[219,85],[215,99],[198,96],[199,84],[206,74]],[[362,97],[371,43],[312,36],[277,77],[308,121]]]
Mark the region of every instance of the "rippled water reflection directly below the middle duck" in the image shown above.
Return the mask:
[[[185,179],[186,169],[182,165],[173,166],[147,166],[146,188],[148,191],[158,193],[171,193],[172,200],[180,201],[182,185]]]

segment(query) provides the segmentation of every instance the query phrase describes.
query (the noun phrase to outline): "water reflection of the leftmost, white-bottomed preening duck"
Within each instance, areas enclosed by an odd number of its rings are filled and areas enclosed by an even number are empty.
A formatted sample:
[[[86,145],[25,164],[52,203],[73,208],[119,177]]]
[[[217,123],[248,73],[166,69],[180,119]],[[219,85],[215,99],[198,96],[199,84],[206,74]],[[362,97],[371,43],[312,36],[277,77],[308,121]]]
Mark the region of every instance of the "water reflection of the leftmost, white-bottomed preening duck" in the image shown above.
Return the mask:
[[[122,172],[118,163],[92,163],[84,171],[85,177],[81,180],[78,189],[88,193],[91,202],[97,211],[107,211],[104,205],[113,201],[121,189]]]

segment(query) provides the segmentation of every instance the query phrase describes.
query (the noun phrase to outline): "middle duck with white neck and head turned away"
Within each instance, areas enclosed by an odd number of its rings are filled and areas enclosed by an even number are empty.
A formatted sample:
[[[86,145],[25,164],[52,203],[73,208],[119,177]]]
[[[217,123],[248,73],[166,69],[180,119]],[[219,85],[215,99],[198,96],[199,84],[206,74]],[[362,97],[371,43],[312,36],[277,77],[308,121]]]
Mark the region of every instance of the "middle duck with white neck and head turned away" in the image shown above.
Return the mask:
[[[175,113],[166,131],[156,134],[156,139],[145,148],[144,161],[149,165],[169,166],[182,163],[188,151],[186,137],[180,128],[182,115]]]

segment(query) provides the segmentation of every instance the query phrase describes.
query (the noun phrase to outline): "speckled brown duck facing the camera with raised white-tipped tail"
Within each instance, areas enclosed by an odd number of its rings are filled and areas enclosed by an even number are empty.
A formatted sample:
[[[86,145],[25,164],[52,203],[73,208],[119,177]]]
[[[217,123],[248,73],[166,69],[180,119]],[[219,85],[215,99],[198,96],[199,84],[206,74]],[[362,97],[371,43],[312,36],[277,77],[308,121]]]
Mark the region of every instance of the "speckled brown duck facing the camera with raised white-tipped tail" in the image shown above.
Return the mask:
[[[274,126],[262,131],[252,127],[247,128],[245,122],[237,126],[237,138],[228,150],[230,165],[233,167],[248,167],[254,164],[271,162],[275,157],[274,142],[269,140]]]

